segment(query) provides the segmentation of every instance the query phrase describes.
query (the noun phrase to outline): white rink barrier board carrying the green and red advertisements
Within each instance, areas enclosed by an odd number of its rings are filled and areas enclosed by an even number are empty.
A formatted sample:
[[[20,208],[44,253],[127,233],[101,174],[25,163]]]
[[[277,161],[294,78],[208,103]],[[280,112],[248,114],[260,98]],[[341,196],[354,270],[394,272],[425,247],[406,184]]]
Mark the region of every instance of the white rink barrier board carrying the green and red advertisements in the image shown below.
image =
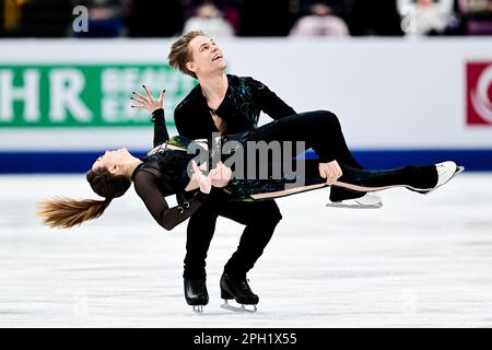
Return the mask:
[[[0,40],[0,152],[24,150],[33,144],[27,135],[36,133],[45,151],[120,144],[115,129],[149,125],[148,114],[130,107],[141,84],[154,95],[166,89],[171,122],[197,83],[168,66],[174,40]],[[227,72],[254,77],[297,112],[335,113],[353,149],[492,149],[488,37],[224,38],[219,45]],[[93,129],[106,131],[107,142],[75,144],[65,135]],[[121,144],[145,148],[128,141]]]

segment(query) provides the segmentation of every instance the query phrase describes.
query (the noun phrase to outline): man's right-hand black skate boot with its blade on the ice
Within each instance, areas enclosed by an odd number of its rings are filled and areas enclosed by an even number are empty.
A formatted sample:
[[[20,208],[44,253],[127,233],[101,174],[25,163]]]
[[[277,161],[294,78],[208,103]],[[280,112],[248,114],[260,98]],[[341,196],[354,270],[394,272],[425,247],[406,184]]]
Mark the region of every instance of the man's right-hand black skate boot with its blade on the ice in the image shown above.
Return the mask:
[[[259,302],[258,295],[253,293],[249,288],[246,276],[234,276],[227,272],[222,273],[221,277],[221,298],[224,300],[222,305],[225,310],[242,311],[242,312],[256,312],[256,304]],[[235,300],[241,307],[232,306],[227,303],[227,300]],[[253,305],[253,310],[248,310],[245,305]]]

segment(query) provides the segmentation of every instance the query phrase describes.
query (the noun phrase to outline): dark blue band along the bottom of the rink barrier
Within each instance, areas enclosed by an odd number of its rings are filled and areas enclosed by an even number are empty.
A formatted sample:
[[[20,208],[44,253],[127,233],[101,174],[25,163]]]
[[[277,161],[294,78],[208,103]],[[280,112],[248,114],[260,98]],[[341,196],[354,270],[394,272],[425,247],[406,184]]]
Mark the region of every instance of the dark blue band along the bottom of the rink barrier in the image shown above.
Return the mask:
[[[132,151],[136,156],[144,152]],[[370,170],[426,165],[447,160],[464,165],[468,172],[492,171],[492,149],[425,150],[355,150],[354,156]],[[85,173],[101,152],[0,152],[0,174],[81,174]],[[305,159],[316,159],[307,151]]]

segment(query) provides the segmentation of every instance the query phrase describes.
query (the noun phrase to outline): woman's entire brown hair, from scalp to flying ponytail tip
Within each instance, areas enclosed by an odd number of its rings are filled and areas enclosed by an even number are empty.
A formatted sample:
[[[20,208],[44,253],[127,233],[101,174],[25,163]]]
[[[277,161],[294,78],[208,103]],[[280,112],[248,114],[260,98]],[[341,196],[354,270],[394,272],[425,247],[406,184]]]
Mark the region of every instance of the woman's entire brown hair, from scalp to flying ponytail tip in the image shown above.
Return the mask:
[[[37,214],[46,225],[68,229],[101,217],[114,198],[122,196],[131,182],[122,175],[113,175],[106,167],[87,172],[86,179],[94,192],[104,200],[55,198],[38,202]]]

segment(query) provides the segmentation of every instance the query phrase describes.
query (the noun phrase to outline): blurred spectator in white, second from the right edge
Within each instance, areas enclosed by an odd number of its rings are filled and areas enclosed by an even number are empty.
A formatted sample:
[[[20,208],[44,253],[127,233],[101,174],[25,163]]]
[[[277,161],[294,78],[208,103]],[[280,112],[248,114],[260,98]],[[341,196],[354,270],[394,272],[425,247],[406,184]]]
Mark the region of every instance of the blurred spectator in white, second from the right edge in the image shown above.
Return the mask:
[[[401,26],[407,35],[444,34],[453,16],[453,0],[398,0]]]

